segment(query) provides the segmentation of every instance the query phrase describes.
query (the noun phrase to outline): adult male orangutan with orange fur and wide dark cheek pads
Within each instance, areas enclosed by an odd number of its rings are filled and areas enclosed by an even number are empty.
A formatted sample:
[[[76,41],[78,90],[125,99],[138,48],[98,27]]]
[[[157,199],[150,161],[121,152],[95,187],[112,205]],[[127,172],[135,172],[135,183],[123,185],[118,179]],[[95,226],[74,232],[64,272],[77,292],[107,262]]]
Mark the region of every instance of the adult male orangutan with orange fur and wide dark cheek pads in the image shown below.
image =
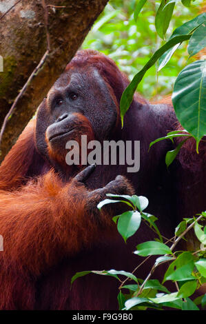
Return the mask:
[[[134,243],[154,239],[141,225],[127,245],[112,221],[116,204],[96,208],[105,194],[147,196],[148,212],[171,237],[182,216],[206,209],[205,147],[187,141],[169,170],[171,141],[150,142],[178,128],[172,105],[135,95],[121,129],[119,102],[129,81],[105,55],[78,52],[39,106],[0,167],[1,310],[114,310],[118,283],[83,270],[133,270]],[[127,165],[68,165],[70,140],[140,141],[140,170]],[[95,170],[94,170],[95,169]],[[115,207],[114,207],[115,206]],[[121,208],[119,205],[118,208]],[[150,269],[138,270],[143,277]],[[161,275],[161,274],[160,274]]]

